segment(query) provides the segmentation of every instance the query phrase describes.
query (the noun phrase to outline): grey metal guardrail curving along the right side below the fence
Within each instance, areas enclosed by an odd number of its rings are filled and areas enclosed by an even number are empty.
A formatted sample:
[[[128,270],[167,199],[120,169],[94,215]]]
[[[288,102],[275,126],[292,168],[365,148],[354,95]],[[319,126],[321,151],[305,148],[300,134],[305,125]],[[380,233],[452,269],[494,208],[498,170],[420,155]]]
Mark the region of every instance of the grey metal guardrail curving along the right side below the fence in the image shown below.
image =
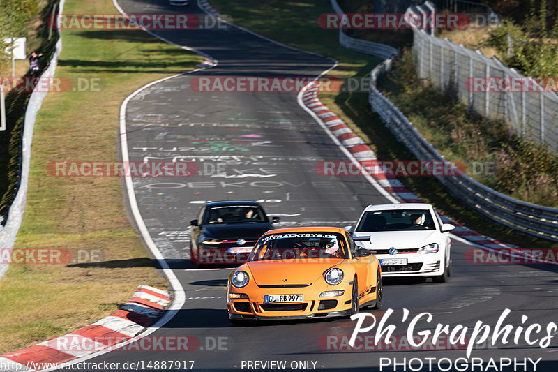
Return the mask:
[[[416,32],[423,33],[423,31]],[[370,73],[370,106],[416,158],[444,161],[444,156],[416,131],[407,117],[376,87],[377,81],[391,70],[394,59],[393,56],[386,59]],[[484,186],[466,174],[457,177],[437,177],[437,179],[452,195],[484,216],[515,230],[558,241],[558,209],[515,200]]]

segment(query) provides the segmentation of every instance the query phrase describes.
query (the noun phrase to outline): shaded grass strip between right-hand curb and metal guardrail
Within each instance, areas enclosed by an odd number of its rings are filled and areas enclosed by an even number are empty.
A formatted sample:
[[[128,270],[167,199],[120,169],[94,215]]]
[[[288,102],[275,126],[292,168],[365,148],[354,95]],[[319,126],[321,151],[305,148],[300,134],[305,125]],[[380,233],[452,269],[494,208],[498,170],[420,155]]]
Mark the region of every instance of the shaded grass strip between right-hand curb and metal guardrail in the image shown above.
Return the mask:
[[[339,66],[329,75],[367,77],[370,70],[379,62],[375,57],[351,52],[341,47],[338,43],[338,30],[319,27],[317,23],[319,15],[332,13],[329,1],[298,0],[284,3],[273,0],[262,3],[257,0],[245,0],[241,3],[231,3],[225,0],[211,0],[210,2],[220,13],[230,15],[236,24],[251,31],[287,45],[338,59]],[[345,3],[350,2],[345,1]],[[340,5],[344,7],[345,12],[351,13],[351,8],[347,8],[343,3]],[[351,6],[359,8],[362,4],[356,2]],[[384,161],[414,159],[414,156],[384,126],[379,116],[370,110],[368,92],[320,93],[319,98],[357,135],[361,136],[375,151],[377,158]],[[434,204],[439,211],[481,234],[526,248],[554,246],[550,241],[520,234],[476,214],[463,202],[448,195],[444,186],[433,177],[400,177],[399,179],[425,202]]]

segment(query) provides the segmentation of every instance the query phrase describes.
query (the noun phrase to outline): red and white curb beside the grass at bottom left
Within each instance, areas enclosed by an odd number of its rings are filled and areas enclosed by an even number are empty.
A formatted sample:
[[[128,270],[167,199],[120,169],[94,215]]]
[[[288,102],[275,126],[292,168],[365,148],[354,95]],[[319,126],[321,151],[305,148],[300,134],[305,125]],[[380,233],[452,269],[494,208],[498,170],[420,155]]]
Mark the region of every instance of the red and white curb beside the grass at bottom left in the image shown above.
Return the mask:
[[[149,327],[169,303],[168,292],[140,285],[126,304],[98,322],[29,348],[0,355],[0,371],[36,371],[33,367],[68,362],[110,348]]]

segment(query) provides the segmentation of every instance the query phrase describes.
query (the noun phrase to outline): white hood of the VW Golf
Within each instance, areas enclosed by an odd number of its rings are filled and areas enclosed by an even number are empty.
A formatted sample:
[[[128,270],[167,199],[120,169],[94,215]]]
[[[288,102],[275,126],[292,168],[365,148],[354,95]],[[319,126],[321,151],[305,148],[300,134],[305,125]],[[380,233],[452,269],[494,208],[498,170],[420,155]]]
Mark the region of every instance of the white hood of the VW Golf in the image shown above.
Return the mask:
[[[361,241],[364,248],[389,249],[391,247],[401,249],[421,248],[426,244],[435,243],[438,238],[436,230],[419,231],[380,231],[380,232],[356,232],[355,237],[368,236],[370,241]]]

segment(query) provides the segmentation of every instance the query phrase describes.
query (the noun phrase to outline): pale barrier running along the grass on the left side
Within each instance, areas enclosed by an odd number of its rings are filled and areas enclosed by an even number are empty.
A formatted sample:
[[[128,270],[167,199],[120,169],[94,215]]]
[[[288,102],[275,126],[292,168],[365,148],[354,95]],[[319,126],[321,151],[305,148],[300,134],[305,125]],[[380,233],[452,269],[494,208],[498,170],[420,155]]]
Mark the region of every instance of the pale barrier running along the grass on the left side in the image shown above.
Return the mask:
[[[59,14],[62,13],[64,1],[59,3]],[[60,20],[59,20],[60,22]],[[52,54],[49,66],[45,72],[40,75],[41,77],[53,77],[56,64],[58,63],[58,56],[62,50],[62,38],[59,35],[56,42],[56,50]],[[0,249],[10,251],[13,248],[17,231],[20,230],[20,225],[23,219],[23,212],[25,209],[25,202],[27,200],[27,184],[29,181],[29,167],[31,165],[31,141],[33,140],[33,127],[35,126],[35,118],[40,105],[43,104],[43,99],[47,95],[47,91],[39,91],[38,85],[36,90],[31,93],[27,108],[25,110],[23,133],[22,133],[22,147],[21,147],[21,172],[20,184],[17,188],[15,198],[10,205],[8,211],[8,220],[0,231]],[[0,278],[8,269],[8,264],[0,264]]]

